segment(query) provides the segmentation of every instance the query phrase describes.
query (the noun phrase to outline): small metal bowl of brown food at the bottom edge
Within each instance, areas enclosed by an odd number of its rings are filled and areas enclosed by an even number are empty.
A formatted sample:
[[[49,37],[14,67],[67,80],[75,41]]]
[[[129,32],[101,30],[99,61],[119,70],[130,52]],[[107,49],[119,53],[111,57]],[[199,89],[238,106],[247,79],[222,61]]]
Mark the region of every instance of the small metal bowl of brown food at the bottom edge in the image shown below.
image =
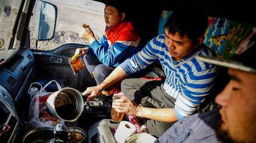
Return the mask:
[[[82,128],[79,128],[79,127],[68,127],[68,130],[69,130],[69,133],[68,133],[69,140],[68,140],[68,142],[70,142],[70,143],[71,142],[72,143],[82,142],[82,141],[85,140],[85,138],[87,136],[85,130],[82,129]]]

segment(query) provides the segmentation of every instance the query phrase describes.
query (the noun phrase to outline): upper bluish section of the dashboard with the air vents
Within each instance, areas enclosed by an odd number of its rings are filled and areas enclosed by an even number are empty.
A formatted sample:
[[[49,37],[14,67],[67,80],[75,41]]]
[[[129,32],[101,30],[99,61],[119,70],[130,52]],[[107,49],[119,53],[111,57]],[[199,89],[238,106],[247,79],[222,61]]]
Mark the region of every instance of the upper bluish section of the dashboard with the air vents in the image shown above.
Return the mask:
[[[34,63],[33,53],[27,48],[20,48],[0,67],[0,85],[9,91],[16,102],[20,98],[26,79],[33,73]]]

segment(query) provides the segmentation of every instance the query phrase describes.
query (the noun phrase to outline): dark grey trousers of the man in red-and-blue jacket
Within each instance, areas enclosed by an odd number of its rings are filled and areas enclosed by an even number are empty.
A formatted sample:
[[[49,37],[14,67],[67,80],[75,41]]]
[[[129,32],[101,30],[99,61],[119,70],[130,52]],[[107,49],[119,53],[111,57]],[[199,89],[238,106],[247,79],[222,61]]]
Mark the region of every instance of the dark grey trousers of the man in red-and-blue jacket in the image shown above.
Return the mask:
[[[102,64],[94,55],[85,55],[84,62],[89,73],[94,73],[96,85],[101,84],[101,82],[104,81],[104,79],[107,78],[107,76],[115,69]]]

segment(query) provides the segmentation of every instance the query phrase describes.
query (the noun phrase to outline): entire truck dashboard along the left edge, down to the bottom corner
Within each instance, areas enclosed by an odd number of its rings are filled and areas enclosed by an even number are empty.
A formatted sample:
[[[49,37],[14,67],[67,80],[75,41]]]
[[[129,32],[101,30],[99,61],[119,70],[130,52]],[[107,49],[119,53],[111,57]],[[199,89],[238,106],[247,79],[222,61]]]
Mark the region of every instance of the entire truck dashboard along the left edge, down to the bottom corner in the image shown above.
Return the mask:
[[[35,68],[33,53],[27,48],[20,48],[0,66],[0,142],[15,142],[22,127],[17,104],[26,93]],[[3,131],[4,128],[9,128]]]

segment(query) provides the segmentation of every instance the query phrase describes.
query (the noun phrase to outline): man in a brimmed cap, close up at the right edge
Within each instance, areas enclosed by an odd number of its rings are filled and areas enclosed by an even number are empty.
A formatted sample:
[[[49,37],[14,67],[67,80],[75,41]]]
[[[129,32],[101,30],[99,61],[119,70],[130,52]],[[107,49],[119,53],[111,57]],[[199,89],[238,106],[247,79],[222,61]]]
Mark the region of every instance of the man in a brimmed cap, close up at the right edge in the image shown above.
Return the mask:
[[[256,142],[256,28],[231,60],[198,59],[229,67],[229,83],[216,96],[219,110],[197,113],[172,125],[155,142]]]

